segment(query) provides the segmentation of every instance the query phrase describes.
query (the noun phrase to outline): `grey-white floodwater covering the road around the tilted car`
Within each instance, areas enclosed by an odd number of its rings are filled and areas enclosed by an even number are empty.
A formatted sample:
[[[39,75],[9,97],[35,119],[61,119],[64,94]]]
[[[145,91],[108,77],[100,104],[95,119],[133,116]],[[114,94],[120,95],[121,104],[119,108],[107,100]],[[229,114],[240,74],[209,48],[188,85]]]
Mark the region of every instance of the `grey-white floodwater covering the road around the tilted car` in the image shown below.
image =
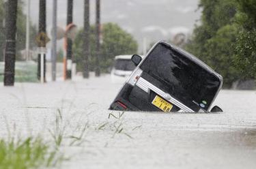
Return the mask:
[[[120,87],[109,75],[1,86],[0,136],[48,138],[59,110],[65,136],[87,126],[83,143],[63,142],[61,168],[256,168],[256,91],[221,91],[223,113],[122,114],[107,110]]]

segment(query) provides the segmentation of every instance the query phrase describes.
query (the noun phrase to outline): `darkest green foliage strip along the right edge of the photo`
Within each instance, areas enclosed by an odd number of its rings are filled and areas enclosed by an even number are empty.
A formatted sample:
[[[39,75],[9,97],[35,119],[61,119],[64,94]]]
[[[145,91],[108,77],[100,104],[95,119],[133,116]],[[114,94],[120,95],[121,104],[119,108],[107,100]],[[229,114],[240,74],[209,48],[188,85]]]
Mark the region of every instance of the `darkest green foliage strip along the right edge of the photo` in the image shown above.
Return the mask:
[[[242,78],[256,78],[256,1],[237,1],[236,21],[242,25],[242,31],[236,43],[236,68],[242,72]]]

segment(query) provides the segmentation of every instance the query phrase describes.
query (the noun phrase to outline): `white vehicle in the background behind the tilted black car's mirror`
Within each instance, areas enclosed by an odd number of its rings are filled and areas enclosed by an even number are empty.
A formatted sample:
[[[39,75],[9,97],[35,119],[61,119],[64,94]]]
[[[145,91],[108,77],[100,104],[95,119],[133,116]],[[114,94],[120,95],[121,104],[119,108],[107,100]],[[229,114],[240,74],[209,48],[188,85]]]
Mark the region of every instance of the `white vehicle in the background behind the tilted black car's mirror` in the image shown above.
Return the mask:
[[[136,68],[132,62],[132,55],[119,55],[115,57],[115,63],[111,70],[112,82],[123,83]]]

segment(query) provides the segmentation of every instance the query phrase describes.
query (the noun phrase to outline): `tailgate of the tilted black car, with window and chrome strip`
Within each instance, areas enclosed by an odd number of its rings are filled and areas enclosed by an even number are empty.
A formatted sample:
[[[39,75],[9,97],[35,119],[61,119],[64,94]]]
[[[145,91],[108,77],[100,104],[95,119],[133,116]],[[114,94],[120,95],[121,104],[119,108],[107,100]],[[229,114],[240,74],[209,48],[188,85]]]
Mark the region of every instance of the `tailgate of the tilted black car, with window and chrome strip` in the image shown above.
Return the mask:
[[[163,110],[156,99],[171,104],[170,111],[197,112],[202,102],[207,110],[220,86],[214,74],[165,43],[156,45],[139,68],[143,73],[129,98],[141,110]]]

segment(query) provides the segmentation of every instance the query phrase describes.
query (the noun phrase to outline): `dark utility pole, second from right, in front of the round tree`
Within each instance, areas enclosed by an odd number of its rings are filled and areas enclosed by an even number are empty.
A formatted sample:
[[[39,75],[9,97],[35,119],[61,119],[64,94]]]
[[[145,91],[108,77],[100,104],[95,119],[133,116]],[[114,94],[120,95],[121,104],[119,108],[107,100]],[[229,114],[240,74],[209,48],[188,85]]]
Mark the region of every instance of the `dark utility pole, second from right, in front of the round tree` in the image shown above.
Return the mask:
[[[83,33],[83,78],[89,78],[89,0],[85,0],[85,7],[84,7],[84,33]]]

